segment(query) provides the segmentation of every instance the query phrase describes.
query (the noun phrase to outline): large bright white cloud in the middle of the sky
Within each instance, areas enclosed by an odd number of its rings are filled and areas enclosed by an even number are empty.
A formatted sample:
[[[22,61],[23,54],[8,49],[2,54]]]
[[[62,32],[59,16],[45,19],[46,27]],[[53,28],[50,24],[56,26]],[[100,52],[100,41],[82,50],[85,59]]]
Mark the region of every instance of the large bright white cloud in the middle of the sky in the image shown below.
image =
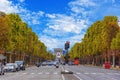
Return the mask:
[[[49,26],[50,29],[60,32],[79,34],[83,28],[87,27],[87,24],[87,20],[75,19],[73,16],[56,14],[56,18],[51,18],[47,26]]]

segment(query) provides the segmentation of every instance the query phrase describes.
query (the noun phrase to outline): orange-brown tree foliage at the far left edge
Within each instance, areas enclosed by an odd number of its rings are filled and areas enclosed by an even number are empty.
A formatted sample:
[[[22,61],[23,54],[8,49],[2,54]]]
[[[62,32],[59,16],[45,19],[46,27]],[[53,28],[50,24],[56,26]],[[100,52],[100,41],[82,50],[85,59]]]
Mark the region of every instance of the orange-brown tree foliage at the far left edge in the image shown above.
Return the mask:
[[[4,49],[9,42],[10,21],[8,16],[0,12],[0,48]]]

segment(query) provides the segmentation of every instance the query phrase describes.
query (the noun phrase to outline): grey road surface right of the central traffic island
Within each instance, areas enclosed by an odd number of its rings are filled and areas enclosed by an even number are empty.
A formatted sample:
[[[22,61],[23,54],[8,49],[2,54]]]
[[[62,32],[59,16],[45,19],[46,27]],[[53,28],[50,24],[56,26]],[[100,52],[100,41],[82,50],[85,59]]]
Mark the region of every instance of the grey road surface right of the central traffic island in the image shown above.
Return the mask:
[[[120,80],[120,71],[88,66],[65,66],[81,80]]]

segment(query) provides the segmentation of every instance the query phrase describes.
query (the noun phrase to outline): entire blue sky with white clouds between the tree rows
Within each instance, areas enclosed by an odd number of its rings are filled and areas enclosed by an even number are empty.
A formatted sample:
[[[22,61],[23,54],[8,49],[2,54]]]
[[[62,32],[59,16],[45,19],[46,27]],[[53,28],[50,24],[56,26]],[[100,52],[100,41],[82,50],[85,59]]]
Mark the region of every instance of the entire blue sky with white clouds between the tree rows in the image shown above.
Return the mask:
[[[0,11],[17,13],[47,50],[81,42],[86,30],[104,16],[120,19],[120,0],[0,0]]]

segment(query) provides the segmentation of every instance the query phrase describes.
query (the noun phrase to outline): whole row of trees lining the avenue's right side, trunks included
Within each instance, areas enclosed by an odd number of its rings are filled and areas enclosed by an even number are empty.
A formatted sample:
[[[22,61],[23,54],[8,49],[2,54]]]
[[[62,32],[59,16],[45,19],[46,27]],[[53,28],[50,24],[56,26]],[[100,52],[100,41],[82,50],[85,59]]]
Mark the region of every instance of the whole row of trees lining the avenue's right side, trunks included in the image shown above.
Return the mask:
[[[101,21],[92,24],[82,42],[76,43],[70,50],[71,59],[79,57],[86,63],[95,61],[111,61],[111,55],[119,55],[120,51],[120,27],[116,16],[106,16]],[[116,56],[115,55],[115,56]],[[97,60],[96,60],[96,63]],[[115,63],[114,63],[115,64]]]

